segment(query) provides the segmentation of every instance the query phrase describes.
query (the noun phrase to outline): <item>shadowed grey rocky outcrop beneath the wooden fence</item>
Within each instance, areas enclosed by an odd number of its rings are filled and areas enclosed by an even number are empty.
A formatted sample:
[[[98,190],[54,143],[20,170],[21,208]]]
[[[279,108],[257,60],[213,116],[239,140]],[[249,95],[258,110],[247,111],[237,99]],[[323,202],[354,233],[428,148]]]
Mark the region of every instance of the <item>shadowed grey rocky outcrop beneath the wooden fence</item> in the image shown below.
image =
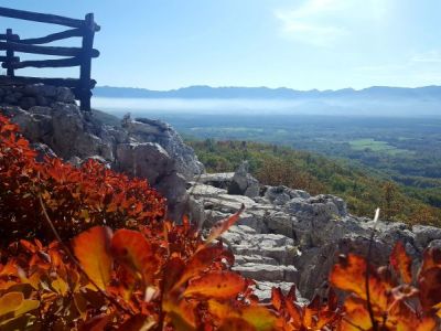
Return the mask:
[[[42,156],[73,164],[93,158],[130,175],[148,179],[168,199],[169,216],[187,210],[186,179],[203,166],[169,125],[125,117],[107,125],[99,113],[80,111],[68,88],[42,84],[0,86],[1,111],[18,124]]]

